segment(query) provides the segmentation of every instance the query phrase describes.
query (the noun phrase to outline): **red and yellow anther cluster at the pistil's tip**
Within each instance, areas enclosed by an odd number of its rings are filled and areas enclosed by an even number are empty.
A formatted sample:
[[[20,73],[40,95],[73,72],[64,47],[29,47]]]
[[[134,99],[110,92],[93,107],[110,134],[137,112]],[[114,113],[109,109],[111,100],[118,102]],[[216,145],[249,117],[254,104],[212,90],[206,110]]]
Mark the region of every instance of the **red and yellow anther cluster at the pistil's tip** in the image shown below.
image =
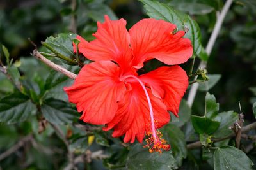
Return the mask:
[[[152,132],[146,132],[146,136],[148,136],[148,138],[145,139],[145,141],[147,142],[147,145],[143,147],[149,148],[150,153],[153,153],[153,152],[162,153],[163,150],[166,150],[166,151],[170,150],[170,145],[166,144],[167,141],[162,138],[163,134],[160,131],[157,131],[156,138],[152,136]]]

